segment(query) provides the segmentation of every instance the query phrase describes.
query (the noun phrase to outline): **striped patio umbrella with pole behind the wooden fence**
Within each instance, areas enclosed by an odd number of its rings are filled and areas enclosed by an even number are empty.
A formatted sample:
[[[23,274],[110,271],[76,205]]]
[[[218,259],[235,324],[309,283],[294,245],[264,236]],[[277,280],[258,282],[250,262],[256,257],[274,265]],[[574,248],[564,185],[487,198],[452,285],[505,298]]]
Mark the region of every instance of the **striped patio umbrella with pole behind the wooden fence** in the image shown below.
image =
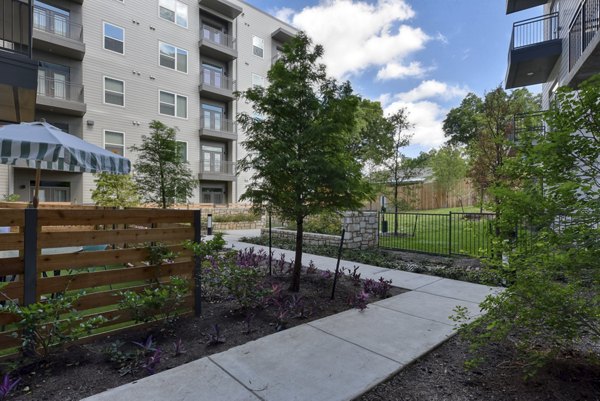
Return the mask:
[[[128,174],[129,159],[92,145],[45,122],[0,128],[0,163],[36,169],[33,206],[39,202],[42,167],[75,173]]]

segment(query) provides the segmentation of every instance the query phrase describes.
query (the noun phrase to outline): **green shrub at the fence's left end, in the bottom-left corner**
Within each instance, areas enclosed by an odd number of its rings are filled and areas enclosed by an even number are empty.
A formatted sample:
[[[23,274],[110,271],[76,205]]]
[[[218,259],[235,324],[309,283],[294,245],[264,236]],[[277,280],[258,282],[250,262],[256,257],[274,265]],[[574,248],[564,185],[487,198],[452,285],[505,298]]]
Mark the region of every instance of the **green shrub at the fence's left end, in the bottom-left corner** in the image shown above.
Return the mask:
[[[83,295],[83,292],[56,294],[27,306],[10,300],[0,306],[0,311],[19,318],[13,335],[20,339],[23,352],[47,358],[53,351],[91,334],[107,322],[103,316],[85,317],[75,309],[74,305]]]

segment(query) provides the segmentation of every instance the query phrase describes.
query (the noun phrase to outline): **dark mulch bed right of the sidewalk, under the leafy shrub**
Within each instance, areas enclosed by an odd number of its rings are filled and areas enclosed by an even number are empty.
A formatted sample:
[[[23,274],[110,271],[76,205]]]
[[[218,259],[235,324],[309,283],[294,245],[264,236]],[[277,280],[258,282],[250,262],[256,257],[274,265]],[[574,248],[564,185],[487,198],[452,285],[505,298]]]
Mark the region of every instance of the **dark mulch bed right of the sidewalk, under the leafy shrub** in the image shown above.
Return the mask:
[[[600,366],[576,355],[524,380],[509,344],[490,345],[487,360],[471,371],[463,366],[468,354],[468,344],[455,336],[356,401],[600,400]]]

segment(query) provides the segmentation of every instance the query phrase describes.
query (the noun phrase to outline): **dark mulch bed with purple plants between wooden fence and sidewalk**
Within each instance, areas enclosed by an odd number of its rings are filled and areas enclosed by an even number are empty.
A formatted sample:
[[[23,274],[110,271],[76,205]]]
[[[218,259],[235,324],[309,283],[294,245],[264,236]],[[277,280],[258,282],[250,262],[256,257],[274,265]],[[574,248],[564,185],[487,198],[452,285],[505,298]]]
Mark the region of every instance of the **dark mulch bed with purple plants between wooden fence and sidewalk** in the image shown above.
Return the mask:
[[[286,328],[352,308],[349,299],[353,298],[360,288],[344,277],[338,282],[336,297],[331,301],[329,297],[332,282],[332,275],[323,273],[303,276],[299,294],[303,297],[308,316],[288,316],[285,319]],[[267,285],[275,283],[283,284],[286,296],[292,296],[287,292],[289,276],[267,278]],[[402,292],[405,290],[391,289],[391,295]],[[377,300],[375,297],[369,299],[371,302]],[[107,360],[105,349],[117,340],[124,342],[126,347],[135,349],[133,341],[143,343],[152,335],[157,347],[161,349],[161,362],[156,366],[156,372],[160,372],[282,329],[278,327],[278,308],[275,305],[252,310],[251,314],[254,316],[248,325],[248,314],[239,310],[233,300],[207,299],[203,303],[201,317],[181,318],[172,327],[162,330],[156,327],[131,331],[91,344],[73,346],[49,361],[18,369],[11,376],[20,377],[21,382],[16,392],[8,399],[75,401],[148,376],[144,369],[139,369],[134,374],[122,375],[118,367]],[[224,339],[224,343],[210,343],[211,334],[215,334],[215,325],[219,326],[220,337]],[[184,353],[176,356],[174,344],[178,340],[181,340]]]

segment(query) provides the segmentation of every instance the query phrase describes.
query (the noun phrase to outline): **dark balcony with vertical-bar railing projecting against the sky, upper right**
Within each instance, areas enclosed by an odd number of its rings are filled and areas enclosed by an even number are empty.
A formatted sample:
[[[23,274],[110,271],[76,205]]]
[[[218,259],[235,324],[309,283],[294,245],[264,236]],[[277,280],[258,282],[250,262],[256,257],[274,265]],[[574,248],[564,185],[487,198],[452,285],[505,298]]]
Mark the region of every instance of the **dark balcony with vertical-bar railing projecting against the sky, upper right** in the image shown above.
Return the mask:
[[[561,51],[558,13],[515,22],[508,52],[506,89],[546,82]]]

